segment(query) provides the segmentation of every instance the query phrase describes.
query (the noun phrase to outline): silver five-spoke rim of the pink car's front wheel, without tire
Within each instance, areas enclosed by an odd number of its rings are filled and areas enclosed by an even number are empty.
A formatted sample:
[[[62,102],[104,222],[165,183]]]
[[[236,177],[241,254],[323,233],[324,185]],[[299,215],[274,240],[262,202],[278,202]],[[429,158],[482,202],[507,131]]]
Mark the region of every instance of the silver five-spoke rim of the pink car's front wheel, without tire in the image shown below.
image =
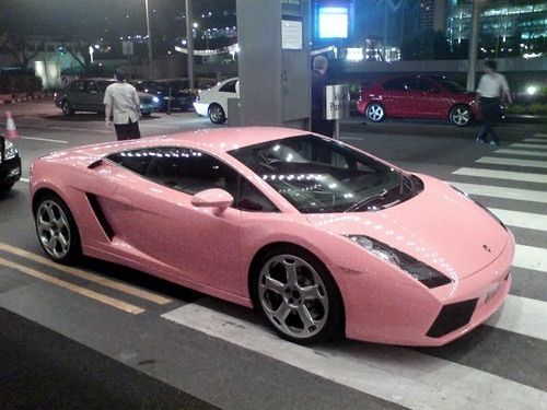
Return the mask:
[[[278,255],[258,277],[258,298],[269,321],[282,333],[309,339],[325,327],[328,294],[317,271],[304,259]]]

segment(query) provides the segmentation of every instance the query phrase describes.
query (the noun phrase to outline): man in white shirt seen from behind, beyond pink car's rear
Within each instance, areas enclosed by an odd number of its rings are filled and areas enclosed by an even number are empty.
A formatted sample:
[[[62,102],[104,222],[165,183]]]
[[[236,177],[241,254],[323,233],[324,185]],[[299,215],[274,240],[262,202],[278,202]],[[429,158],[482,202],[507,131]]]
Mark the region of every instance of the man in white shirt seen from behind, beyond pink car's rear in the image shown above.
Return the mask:
[[[116,70],[116,82],[104,93],[106,127],[114,121],[118,141],[140,138],[140,99],[135,86],[126,82],[127,74]]]

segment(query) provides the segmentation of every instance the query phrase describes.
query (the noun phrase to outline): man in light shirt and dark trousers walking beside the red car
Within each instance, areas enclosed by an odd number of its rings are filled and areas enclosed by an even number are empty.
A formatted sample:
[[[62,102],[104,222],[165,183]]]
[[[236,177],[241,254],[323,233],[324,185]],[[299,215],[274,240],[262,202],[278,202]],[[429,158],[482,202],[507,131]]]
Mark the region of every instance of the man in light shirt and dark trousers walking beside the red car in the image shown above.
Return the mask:
[[[490,145],[500,144],[493,126],[502,116],[501,103],[503,98],[509,104],[513,104],[508,81],[497,69],[498,63],[496,61],[487,60],[485,62],[485,73],[480,78],[477,87],[478,103],[484,118],[482,127],[480,127],[477,136],[477,143],[481,144],[488,143],[488,137],[490,137]]]

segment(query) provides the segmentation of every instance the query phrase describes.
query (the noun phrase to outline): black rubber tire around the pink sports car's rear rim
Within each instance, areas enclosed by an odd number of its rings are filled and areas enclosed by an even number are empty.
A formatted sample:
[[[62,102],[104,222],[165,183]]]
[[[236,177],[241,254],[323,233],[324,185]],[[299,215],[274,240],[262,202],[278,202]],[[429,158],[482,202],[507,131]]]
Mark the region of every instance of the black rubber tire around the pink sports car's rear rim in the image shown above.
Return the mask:
[[[63,232],[63,235],[69,238],[68,251],[62,256],[55,255],[47,246],[43,243],[43,236],[40,234],[40,229],[38,227],[38,212],[40,212],[42,206],[46,203],[54,203],[57,206],[62,212],[65,212],[68,226]],[[70,212],[69,208],[65,203],[65,201],[54,192],[47,192],[42,195],[34,206],[34,224],[36,226],[36,234],[38,235],[38,242],[46,253],[46,255],[56,262],[59,263],[69,263],[78,259],[82,255],[82,245],[80,239],[80,233],[78,231],[78,225],[75,224],[74,218]],[[59,231],[62,231],[59,230]]]

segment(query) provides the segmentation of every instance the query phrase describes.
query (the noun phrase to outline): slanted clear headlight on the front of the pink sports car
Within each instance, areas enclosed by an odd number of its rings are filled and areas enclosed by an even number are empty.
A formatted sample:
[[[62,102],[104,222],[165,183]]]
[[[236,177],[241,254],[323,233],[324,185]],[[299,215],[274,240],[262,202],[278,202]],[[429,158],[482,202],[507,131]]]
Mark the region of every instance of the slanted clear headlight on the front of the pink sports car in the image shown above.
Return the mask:
[[[452,282],[450,278],[445,277],[438,270],[420,262],[410,255],[392,248],[380,241],[364,235],[348,235],[348,237],[356,244],[359,244],[369,250],[371,254],[374,254],[379,258],[397,266],[428,288],[438,288]]]

